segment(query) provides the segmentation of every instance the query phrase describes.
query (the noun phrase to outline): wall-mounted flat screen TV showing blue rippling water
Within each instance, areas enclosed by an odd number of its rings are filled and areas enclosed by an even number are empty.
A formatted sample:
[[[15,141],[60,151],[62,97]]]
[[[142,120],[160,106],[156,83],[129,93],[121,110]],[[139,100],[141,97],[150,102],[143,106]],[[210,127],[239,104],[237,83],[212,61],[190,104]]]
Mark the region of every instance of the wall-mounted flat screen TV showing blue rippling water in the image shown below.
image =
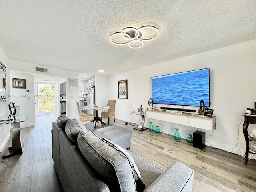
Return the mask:
[[[152,77],[154,104],[210,107],[210,69]]]

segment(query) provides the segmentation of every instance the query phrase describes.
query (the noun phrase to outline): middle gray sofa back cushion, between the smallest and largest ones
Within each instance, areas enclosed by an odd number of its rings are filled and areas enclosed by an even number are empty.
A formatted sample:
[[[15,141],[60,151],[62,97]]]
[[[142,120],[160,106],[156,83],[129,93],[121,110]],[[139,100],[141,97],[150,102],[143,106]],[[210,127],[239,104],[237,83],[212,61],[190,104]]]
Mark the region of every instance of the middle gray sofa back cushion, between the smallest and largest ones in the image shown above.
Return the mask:
[[[72,141],[72,142],[77,142],[77,136],[80,132],[86,132],[86,128],[84,127],[84,125],[80,122],[80,120],[78,119],[70,119],[68,120],[68,122],[66,123],[65,126],[65,132],[68,136],[68,138]]]

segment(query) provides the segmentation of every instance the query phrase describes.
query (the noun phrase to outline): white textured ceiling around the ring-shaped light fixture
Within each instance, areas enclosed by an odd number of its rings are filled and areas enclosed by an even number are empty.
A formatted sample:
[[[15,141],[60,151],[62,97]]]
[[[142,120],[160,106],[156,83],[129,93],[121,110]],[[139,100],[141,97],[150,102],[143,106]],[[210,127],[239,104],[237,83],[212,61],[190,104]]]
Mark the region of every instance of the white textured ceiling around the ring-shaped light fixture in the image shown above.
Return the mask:
[[[116,74],[256,39],[255,2],[1,0],[0,46],[24,62]],[[109,40],[144,25],[160,34],[140,49]]]

